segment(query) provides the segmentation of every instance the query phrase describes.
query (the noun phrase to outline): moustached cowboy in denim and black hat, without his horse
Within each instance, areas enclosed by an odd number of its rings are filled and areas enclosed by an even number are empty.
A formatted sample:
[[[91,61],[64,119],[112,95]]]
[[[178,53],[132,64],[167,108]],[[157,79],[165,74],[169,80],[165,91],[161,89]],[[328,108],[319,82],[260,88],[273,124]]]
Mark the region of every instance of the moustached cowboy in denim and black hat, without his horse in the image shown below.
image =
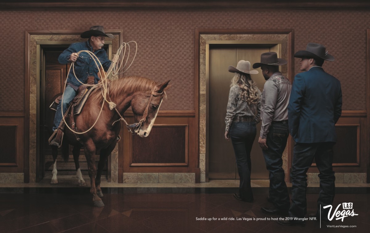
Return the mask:
[[[111,61],[108,59],[107,52],[103,49],[105,37],[113,38],[114,36],[104,32],[104,28],[101,25],[95,25],[90,27],[90,30],[85,31],[81,34],[81,38],[88,38],[85,42],[73,43],[65,49],[58,58],[59,63],[67,64],[68,62],[74,62],[74,72],[70,72],[67,77],[67,85],[64,89],[63,100],[57,106],[57,112],[54,117],[53,125],[53,138],[50,139],[50,145],[60,146],[61,140],[56,140],[57,131],[61,131],[60,124],[63,119],[62,112],[68,109],[70,102],[77,95],[78,87],[83,83],[89,82],[90,84],[97,84],[100,78],[98,77],[99,68],[95,65],[94,58],[90,54],[85,52],[78,55],[77,53],[82,50],[91,51],[99,59],[102,64],[104,71],[107,71],[111,65]],[[114,57],[113,62],[119,58]],[[90,81],[88,81],[88,79]],[[62,104],[63,103],[63,104]],[[62,106],[63,105],[63,106]],[[62,111],[63,110],[63,111]]]

